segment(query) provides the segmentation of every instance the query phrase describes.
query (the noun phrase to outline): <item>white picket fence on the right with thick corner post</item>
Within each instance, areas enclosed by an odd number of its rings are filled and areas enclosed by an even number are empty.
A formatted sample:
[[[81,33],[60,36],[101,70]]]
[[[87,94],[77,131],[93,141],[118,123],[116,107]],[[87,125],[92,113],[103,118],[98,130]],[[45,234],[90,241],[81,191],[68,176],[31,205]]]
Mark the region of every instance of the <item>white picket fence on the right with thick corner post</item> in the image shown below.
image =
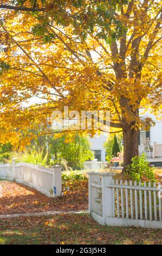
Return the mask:
[[[89,214],[102,225],[162,228],[161,184],[113,179],[114,173],[89,174]]]

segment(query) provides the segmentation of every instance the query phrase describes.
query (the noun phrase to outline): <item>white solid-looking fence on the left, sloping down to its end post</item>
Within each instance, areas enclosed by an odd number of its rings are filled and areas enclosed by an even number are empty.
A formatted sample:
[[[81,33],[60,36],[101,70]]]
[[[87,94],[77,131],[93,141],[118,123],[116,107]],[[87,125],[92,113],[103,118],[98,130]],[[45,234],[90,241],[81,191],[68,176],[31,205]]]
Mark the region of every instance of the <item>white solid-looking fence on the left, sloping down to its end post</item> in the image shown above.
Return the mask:
[[[46,168],[31,163],[0,165],[0,178],[15,180],[46,194],[48,197],[61,196],[61,167]]]

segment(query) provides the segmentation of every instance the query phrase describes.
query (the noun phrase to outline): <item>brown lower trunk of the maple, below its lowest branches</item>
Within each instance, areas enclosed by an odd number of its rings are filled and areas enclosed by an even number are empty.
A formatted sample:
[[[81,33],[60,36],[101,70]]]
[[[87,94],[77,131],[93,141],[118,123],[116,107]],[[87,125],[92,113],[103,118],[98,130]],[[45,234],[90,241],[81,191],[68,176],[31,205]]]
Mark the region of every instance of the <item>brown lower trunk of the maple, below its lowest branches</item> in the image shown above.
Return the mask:
[[[132,157],[138,156],[138,136],[139,130],[131,129],[130,125],[123,129],[124,169],[122,172],[125,172],[126,167],[131,163]]]

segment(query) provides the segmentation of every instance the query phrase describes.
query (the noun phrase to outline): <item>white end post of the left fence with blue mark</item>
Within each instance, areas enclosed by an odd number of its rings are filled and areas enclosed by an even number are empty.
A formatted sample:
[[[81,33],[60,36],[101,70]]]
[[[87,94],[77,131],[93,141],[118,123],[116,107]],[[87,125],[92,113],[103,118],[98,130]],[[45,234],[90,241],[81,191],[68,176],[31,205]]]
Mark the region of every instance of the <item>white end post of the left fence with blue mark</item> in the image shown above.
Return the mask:
[[[62,194],[62,178],[61,166],[53,166],[53,192],[55,197],[60,197]]]

